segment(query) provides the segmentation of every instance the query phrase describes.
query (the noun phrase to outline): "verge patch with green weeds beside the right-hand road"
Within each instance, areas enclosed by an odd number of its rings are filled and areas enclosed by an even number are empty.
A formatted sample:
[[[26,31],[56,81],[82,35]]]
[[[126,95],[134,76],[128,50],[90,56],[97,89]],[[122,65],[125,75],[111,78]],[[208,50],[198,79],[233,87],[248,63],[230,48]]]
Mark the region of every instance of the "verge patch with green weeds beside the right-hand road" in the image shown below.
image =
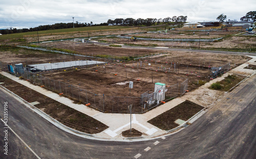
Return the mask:
[[[233,86],[241,82],[245,77],[239,75],[228,75],[224,80],[216,83],[212,83],[209,89],[228,91]]]

